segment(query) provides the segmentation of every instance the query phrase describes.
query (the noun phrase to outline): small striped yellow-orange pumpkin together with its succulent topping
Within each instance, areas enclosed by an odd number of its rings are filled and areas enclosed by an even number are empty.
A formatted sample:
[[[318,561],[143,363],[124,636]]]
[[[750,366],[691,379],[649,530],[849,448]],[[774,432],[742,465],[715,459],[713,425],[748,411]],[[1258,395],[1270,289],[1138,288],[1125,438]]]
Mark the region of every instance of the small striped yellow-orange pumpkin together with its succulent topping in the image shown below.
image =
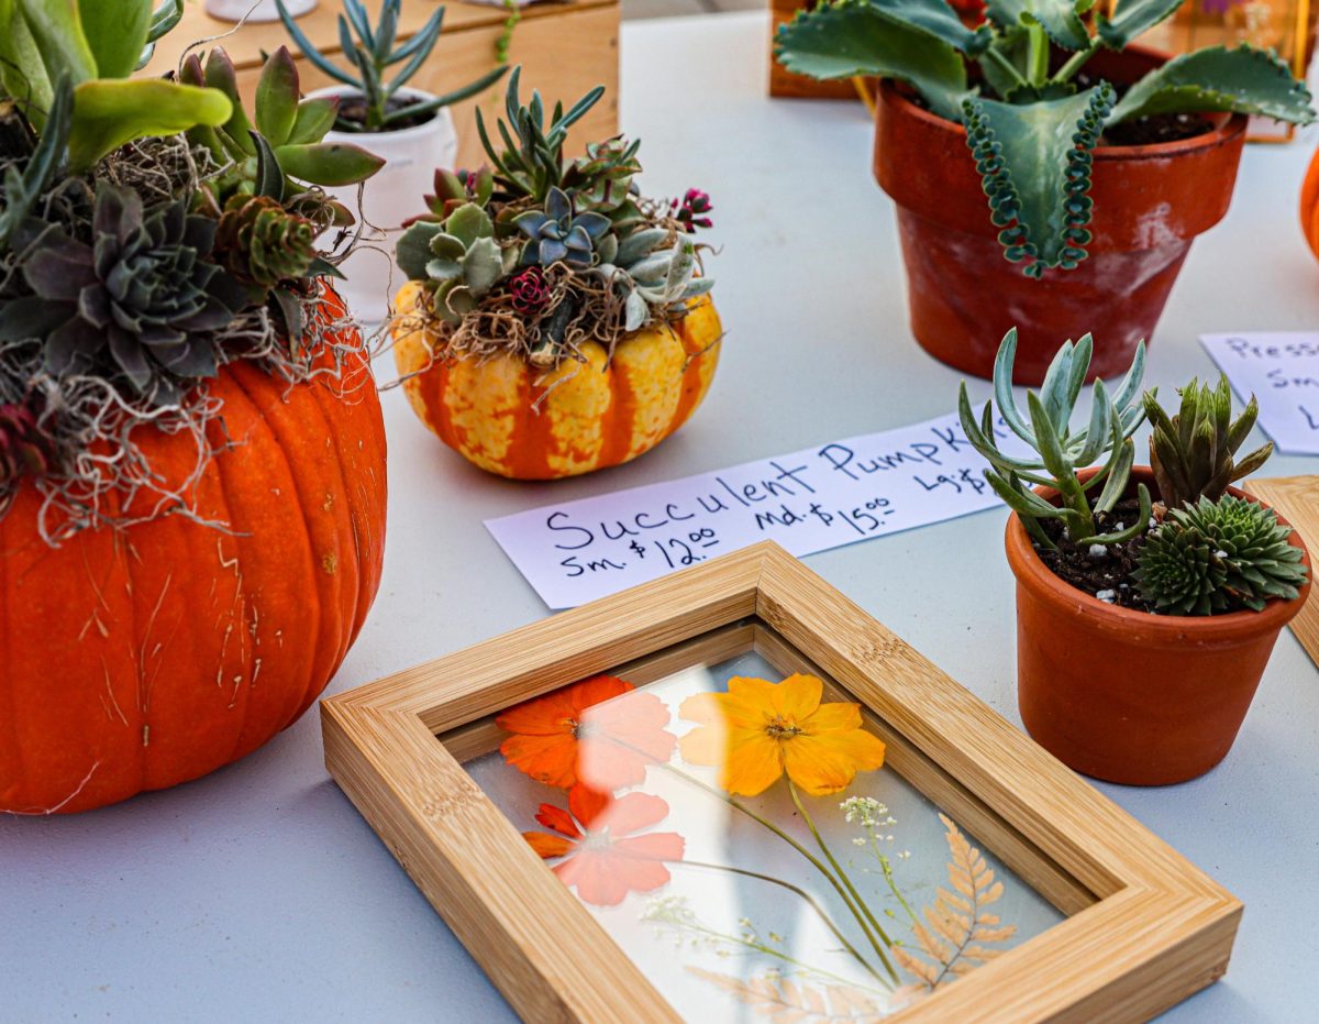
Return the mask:
[[[508,86],[493,169],[441,170],[430,212],[398,243],[394,358],[425,424],[481,468],[572,476],[649,451],[706,395],[721,331],[692,235],[710,198],[641,198],[640,143],[565,160],[563,140],[603,95],[546,117]]]

